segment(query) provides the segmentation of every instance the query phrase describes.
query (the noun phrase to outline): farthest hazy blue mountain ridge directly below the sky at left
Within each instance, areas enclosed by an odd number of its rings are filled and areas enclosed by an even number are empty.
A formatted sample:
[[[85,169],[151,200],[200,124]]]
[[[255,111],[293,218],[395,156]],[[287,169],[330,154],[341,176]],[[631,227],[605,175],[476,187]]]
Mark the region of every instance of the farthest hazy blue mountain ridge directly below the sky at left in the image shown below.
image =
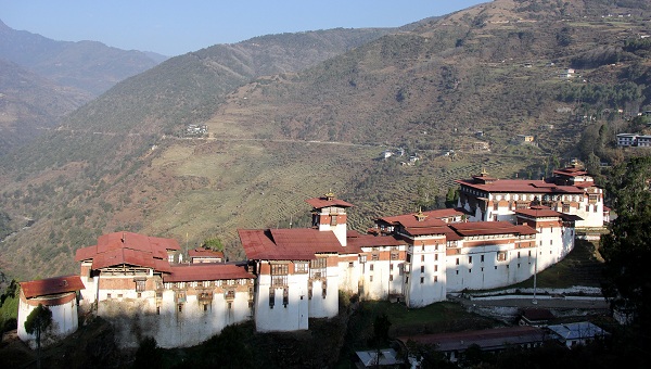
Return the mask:
[[[0,21],[0,59],[54,82],[100,96],[116,82],[159,63],[152,53],[125,51],[95,41],[55,41]]]

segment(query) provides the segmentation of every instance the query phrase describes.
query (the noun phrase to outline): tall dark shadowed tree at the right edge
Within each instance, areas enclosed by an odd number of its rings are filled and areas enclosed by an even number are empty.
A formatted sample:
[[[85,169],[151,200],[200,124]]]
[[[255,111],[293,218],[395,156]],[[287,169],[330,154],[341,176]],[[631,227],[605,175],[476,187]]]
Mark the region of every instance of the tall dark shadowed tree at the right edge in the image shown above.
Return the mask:
[[[607,280],[603,292],[614,308],[631,308],[635,323],[651,322],[651,156],[613,168],[608,191],[617,217],[602,237]]]

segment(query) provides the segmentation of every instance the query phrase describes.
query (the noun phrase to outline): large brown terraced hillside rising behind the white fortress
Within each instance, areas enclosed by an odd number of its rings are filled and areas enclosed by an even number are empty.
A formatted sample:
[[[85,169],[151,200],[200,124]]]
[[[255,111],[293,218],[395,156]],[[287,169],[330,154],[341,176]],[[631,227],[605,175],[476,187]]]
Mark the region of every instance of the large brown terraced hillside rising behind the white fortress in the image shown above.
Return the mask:
[[[76,249],[119,229],[186,246],[219,237],[239,258],[237,228],[307,226],[303,200],[329,190],[356,205],[349,221],[363,230],[374,216],[443,205],[454,179],[482,168],[539,177],[584,155],[584,132],[624,127],[626,113],[650,104],[651,65],[636,41],[651,34],[649,10],[621,3],[498,0],[359,34],[356,48],[336,42],[345,35],[336,30],[170,59],[5,157],[2,208],[35,222],[2,243],[0,268],[74,272]],[[285,50],[273,43],[290,39]],[[347,52],[308,47],[329,42]],[[314,54],[324,61],[283,66]],[[562,77],[567,68],[577,71]],[[184,137],[190,123],[205,123],[208,137]],[[378,160],[398,147],[421,160]]]

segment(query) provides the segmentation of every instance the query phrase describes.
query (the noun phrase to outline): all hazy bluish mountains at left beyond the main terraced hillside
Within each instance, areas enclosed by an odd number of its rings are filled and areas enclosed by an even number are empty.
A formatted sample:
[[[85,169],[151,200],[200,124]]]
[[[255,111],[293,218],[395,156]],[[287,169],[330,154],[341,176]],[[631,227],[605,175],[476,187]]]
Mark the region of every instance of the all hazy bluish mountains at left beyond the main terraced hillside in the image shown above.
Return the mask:
[[[0,155],[56,127],[64,115],[163,60],[163,55],[100,42],[55,41],[0,21]]]

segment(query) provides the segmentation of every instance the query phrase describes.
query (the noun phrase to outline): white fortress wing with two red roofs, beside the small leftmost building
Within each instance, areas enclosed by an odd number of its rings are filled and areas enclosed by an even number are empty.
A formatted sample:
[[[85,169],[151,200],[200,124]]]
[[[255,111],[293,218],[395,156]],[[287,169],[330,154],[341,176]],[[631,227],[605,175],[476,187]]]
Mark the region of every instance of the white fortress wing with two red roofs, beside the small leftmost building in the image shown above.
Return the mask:
[[[178,250],[175,240],[130,232],[79,249],[81,308],[108,320],[123,347],[144,336],[161,347],[191,346],[251,319],[255,277],[245,265],[170,264]]]

